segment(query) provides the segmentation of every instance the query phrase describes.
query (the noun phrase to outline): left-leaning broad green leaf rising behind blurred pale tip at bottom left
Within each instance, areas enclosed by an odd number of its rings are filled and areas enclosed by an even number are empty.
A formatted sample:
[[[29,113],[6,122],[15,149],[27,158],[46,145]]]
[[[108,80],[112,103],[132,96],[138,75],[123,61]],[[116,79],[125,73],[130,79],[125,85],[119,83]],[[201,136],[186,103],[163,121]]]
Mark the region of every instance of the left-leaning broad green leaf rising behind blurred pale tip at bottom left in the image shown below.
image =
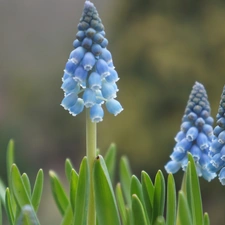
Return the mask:
[[[15,164],[12,165],[11,178],[12,190],[18,206],[22,208],[24,205],[31,205],[31,201],[21,178],[20,171]]]

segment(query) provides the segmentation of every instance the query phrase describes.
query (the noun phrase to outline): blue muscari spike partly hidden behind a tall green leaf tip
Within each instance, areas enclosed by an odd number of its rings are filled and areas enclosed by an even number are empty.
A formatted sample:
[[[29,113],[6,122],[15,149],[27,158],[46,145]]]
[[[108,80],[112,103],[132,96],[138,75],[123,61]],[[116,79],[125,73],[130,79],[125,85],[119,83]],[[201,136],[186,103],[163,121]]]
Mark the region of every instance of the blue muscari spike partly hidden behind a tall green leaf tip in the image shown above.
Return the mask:
[[[198,176],[210,181],[216,173],[209,171],[209,148],[213,138],[213,118],[204,86],[195,83],[182,118],[180,131],[175,137],[176,145],[171,160],[165,165],[168,173],[176,173],[180,168],[186,170],[187,153],[191,153],[196,164]]]

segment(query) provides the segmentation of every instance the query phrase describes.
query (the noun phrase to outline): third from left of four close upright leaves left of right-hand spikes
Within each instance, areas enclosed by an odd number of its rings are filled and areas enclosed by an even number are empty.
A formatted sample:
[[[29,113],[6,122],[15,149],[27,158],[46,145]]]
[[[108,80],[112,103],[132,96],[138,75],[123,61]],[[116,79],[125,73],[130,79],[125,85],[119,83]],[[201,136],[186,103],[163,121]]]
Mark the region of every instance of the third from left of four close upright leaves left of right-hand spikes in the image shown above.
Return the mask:
[[[153,202],[153,216],[152,222],[154,223],[158,216],[163,216],[165,204],[165,180],[162,172],[159,170],[155,177],[155,191]]]

